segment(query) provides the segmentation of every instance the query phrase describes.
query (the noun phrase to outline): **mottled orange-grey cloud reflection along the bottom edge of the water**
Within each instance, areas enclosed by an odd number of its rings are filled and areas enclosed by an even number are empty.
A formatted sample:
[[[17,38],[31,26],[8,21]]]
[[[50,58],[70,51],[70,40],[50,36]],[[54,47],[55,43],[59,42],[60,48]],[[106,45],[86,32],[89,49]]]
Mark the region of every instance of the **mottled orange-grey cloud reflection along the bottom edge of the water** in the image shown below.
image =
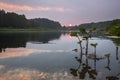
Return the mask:
[[[0,72],[0,80],[73,80],[73,77],[68,72],[44,73],[31,69],[12,69]]]

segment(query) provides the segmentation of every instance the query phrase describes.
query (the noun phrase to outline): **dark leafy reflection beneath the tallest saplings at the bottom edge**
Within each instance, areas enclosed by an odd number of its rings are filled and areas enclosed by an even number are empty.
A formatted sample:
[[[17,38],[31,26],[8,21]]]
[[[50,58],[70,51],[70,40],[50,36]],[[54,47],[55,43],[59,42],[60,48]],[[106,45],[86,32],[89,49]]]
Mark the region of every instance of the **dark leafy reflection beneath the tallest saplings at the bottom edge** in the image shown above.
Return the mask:
[[[95,69],[92,69],[88,65],[88,60],[86,59],[86,63],[82,63],[82,59],[76,57],[76,60],[79,62],[78,68],[71,68],[70,72],[73,76],[78,76],[79,79],[85,79],[86,75],[89,75],[89,78],[96,79],[97,71]]]

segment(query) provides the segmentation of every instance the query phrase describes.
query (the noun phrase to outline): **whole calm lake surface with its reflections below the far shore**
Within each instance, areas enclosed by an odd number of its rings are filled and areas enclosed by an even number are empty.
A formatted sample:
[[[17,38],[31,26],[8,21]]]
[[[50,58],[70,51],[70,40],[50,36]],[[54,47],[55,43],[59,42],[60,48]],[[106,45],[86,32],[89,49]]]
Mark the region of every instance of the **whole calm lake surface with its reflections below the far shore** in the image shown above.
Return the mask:
[[[90,39],[88,54],[98,43],[99,60],[81,56],[77,41],[69,33],[1,33],[0,80],[120,79],[120,39]]]

